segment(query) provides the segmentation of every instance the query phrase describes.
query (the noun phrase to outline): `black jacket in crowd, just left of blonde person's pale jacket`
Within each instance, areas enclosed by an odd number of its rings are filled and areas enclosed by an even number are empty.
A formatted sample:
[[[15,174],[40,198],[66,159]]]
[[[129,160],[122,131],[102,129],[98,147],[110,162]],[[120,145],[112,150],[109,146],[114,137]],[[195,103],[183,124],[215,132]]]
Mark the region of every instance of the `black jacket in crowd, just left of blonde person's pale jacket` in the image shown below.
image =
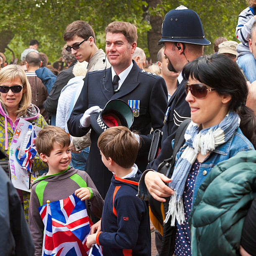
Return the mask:
[[[54,85],[51,87],[51,91],[49,92],[49,96],[44,101],[44,109],[52,114],[56,115],[57,106],[58,106],[58,100],[59,95],[61,93],[61,90],[63,87],[69,82],[71,78],[74,77],[74,74],[72,73],[74,64],[76,64],[77,61],[74,61],[67,69],[62,70],[54,83]]]

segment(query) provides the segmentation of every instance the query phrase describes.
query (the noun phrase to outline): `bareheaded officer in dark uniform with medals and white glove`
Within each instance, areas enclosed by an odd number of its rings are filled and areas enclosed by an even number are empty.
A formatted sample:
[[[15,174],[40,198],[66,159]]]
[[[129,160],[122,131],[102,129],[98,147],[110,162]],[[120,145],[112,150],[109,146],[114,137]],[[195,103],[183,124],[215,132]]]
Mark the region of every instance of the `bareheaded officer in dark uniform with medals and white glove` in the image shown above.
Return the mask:
[[[99,111],[99,107],[103,109],[112,99],[128,103],[134,115],[131,130],[138,131],[142,138],[136,164],[143,171],[151,143],[147,135],[151,127],[157,129],[163,125],[167,88],[162,77],[140,69],[132,61],[136,41],[137,29],[131,23],[118,21],[107,26],[106,56],[112,67],[87,73],[67,125],[72,136],[84,136],[91,128],[90,114]],[[101,161],[97,140],[98,135],[92,128],[86,172],[104,198],[113,174]]]

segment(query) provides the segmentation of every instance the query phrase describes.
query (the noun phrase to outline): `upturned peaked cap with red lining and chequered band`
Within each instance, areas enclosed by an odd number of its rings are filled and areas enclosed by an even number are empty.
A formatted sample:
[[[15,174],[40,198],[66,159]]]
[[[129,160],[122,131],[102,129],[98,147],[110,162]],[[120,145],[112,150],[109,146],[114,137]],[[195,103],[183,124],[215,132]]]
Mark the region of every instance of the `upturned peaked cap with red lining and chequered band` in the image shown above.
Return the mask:
[[[133,119],[133,111],[130,106],[119,99],[108,101],[100,113],[92,113],[90,116],[92,128],[99,135],[113,126],[121,125],[130,129]]]

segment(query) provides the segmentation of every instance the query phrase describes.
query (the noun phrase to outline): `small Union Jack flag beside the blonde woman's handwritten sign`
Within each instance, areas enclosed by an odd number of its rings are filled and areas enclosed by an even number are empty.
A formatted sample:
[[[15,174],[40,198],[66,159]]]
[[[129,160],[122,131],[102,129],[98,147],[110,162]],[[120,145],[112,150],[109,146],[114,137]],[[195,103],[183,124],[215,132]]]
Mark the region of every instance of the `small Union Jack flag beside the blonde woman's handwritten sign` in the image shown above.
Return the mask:
[[[31,135],[25,148],[22,148],[23,145],[20,145],[20,151],[25,151],[25,154],[23,154],[23,156],[20,157],[19,162],[20,165],[23,166],[28,172],[32,173],[33,164],[29,160],[33,159],[37,153],[35,146],[36,133],[32,125],[29,125],[28,128],[32,130]],[[24,141],[26,141],[26,138],[24,139]]]

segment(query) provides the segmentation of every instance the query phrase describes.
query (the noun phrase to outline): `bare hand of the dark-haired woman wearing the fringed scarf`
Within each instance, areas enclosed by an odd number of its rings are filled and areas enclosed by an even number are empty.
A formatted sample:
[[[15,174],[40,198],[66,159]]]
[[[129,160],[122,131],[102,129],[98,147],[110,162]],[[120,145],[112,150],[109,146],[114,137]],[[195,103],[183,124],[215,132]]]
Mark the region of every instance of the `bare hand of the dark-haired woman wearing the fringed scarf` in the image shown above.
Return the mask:
[[[174,194],[174,191],[166,186],[164,182],[171,182],[172,179],[167,178],[159,172],[149,171],[145,175],[145,184],[149,194],[159,202],[165,202],[165,198]]]

